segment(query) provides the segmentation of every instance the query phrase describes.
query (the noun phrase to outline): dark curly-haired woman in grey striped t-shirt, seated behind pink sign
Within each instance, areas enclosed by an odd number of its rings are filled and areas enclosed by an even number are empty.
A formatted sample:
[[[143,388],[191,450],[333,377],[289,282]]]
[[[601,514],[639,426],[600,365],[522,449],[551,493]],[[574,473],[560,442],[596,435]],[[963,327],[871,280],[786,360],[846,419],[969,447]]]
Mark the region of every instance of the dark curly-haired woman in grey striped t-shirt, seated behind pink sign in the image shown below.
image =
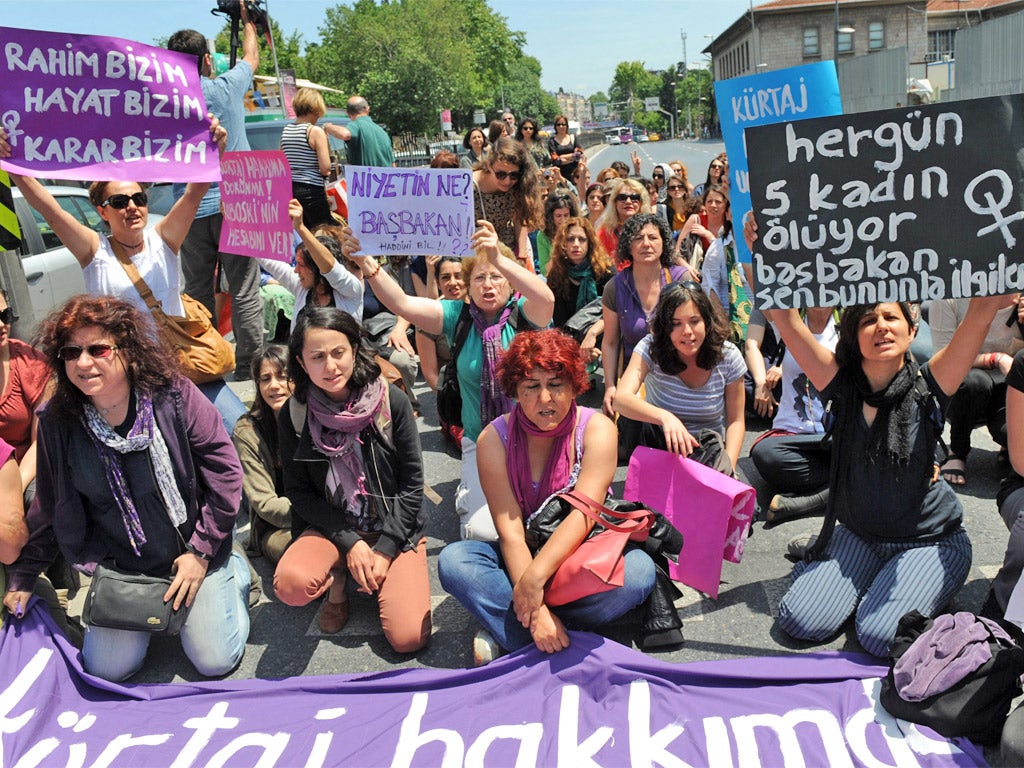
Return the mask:
[[[724,441],[727,469],[735,471],[745,432],[746,365],[728,335],[699,283],[662,290],[650,334],[633,351],[612,402],[617,413],[643,422],[642,444],[689,456],[701,445],[700,431],[711,430]]]

